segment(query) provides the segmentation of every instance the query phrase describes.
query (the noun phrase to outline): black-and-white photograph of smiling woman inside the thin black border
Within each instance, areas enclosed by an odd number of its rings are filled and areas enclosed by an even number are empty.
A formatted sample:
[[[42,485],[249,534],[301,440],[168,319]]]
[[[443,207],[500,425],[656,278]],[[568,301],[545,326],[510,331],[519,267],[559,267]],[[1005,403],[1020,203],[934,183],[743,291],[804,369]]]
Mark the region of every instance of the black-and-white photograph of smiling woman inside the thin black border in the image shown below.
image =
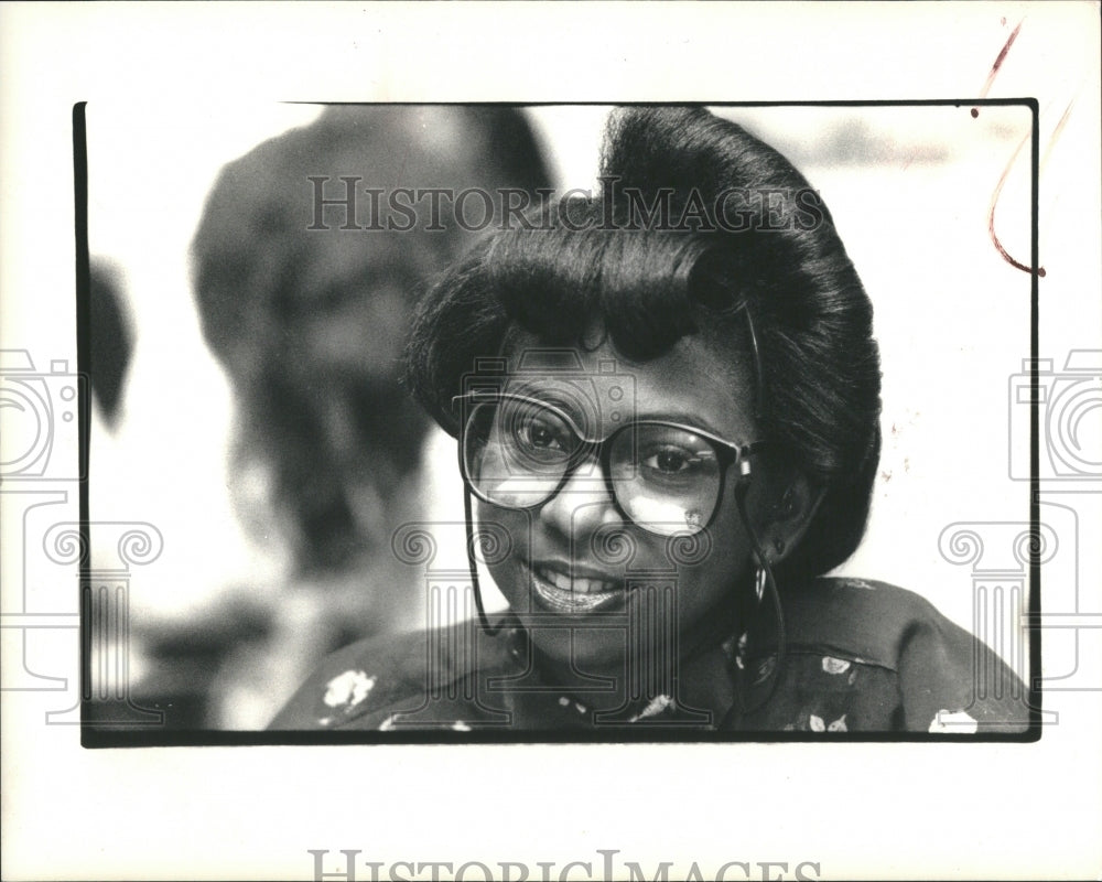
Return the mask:
[[[193,112],[86,108],[107,743],[1027,732],[1039,527],[939,605],[962,490],[1029,520],[958,437],[1029,345],[1028,104]],[[151,249],[123,181],[234,119],[290,128]]]

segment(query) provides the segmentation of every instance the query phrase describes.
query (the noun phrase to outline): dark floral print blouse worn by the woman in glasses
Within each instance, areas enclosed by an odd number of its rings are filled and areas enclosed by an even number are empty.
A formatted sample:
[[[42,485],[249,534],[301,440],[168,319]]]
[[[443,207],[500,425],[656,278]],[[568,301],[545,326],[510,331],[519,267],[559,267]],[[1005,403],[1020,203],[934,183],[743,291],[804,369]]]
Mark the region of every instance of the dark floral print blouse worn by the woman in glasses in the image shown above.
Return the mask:
[[[488,729],[582,732],[616,727],[693,731],[1016,733],[1029,719],[1022,681],[929,602],[883,582],[817,579],[786,587],[784,653],[723,643],[742,697],[723,719],[678,696],[609,711],[548,681],[520,627],[473,623],[369,638],[334,653],[272,721],[280,730],[401,732]],[[623,731],[623,730],[620,730]],[[609,731],[609,740],[616,740]]]

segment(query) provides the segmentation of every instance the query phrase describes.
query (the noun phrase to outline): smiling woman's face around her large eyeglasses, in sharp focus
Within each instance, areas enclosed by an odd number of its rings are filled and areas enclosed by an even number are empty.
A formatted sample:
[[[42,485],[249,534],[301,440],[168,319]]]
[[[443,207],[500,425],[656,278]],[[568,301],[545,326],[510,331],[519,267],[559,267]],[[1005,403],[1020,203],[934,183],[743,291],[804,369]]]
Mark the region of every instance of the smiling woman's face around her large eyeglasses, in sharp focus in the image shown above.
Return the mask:
[[[608,342],[592,351],[551,349],[520,334],[509,346],[507,369],[507,391],[559,404],[591,439],[607,438],[630,420],[655,419],[739,444],[759,440],[748,366],[733,347],[700,335],[640,364]],[[651,466],[682,467],[667,450],[639,447]],[[551,659],[582,670],[624,670],[628,658],[662,666],[691,650],[695,632],[747,576],[752,550],[734,499],[737,477],[732,465],[714,516],[692,539],[656,535],[627,519],[592,461],[534,508],[479,499],[479,525],[504,527],[512,546],[489,571]],[[752,517],[761,507],[763,483],[760,474],[752,477]],[[704,523],[707,515],[690,512],[689,521]]]

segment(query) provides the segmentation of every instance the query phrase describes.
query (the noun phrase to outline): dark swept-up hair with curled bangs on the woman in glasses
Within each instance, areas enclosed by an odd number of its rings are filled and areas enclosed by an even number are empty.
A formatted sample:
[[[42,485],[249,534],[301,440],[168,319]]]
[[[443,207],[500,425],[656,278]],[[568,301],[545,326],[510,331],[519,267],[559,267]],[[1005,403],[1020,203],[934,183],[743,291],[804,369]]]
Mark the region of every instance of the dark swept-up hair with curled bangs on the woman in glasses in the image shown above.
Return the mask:
[[[646,361],[706,330],[758,348],[761,439],[824,491],[790,576],[844,561],[865,529],[879,456],[872,304],[827,206],[780,153],[703,108],[609,121],[602,191],[479,243],[421,302],[414,395],[456,433],[451,399],[510,329],[576,345],[595,324]]]

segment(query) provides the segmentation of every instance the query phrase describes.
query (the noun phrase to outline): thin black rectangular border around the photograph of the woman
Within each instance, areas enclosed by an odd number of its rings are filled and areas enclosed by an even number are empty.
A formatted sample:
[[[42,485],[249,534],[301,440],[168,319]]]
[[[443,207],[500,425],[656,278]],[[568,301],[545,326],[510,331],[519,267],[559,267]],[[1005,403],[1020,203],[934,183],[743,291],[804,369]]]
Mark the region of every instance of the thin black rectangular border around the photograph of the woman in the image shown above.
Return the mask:
[[[377,101],[289,101],[287,104],[311,104],[327,106],[334,104],[385,104]],[[510,107],[559,107],[559,106],[637,106],[657,107],[678,104],[676,101],[399,101],[402,106],[463,105],[463,106],[510,106]],[[875,100],[776,100],[776,101],[687,101],[692,106],[705,107],[1027,107],[1031,115],[1030,136],[1030,277],[1029,312],[1029,526],[1037,535],[1040,524],[1040,478],[1039,478],[1039,378],[1038,378],[1038,323],[1039,323],[1039,268],[1038,256],[1038,205],[1039,205],[1039,106],[1036,98],[927,98],[927,99],[875,99]],[[88,151],[87,151],[87,101],[73,106],[73,171],[74,171],[74,238],[76,245],[76,353],[77,372],[88,383],[90,364],[89,303],[90,265],[88,250]],[[90,383],[88,384],[90,388]],[[1037,742],[1041,736],[1042,690],[1041,669],[1041,549],[1029,544],[1029,594],[1026,628],[1029,634],[1029,674],[1026,682],[1025,700],[1029,709],[1029,724],[1024,732],[1000,732],[981,728],[975,733],[952,732],[692,732],[680,734],[667,730],[634,731],[618,729],[609,739],[599,732],[540,732],[539,730],[494,731],[473,730],[454,732],[442,730],[391,731],[391,732],[295,732],[295,731],[219,731],[219,730],[171,730],[155,724],[122,728],[118,723],[101,723],[90,719],[88,713],[93,701],[91,650],[93,633],[89,626],[90,603],[95,573],[90,560],[90,530],[88,490],[91,474],[89,470],[89,430],[91,424],[90,396],[82,396],[79,401],[79,534],[82,557],[79,561],[78,609],[80,610],[80,745],[90,749],[105,747],[187,747],[187,746],[260,746],[260,745],[337,745],[337,744],[614,744],[614,743],[727,743],[727,742],[951,742],[957,744],[992,742]],[[123,616],[125,617],[125,616]],[[119,633],[128,639],[128,623],[119,623]],[[127,695],[118,698],[134,710],[148,711],[133,704]]]

